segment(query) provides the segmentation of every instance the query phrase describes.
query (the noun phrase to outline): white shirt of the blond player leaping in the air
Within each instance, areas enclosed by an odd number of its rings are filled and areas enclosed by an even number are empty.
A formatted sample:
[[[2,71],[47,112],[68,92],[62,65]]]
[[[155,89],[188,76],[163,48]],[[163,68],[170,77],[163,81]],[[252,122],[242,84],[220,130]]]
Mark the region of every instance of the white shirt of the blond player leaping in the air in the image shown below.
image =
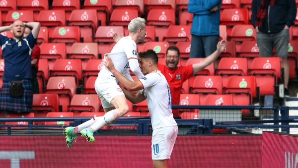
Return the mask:
[[[131,68],[139,79],[144,77],[138,62],[137,44],[130,36],[121,38],[113,47],[111,53],[108,53],[107,55],[112,59],[117,71],[126,78],[132,79],[129,74],[129,68]],[[105,66],[102,66],[102,69],[98,73],[98,77],[114,78],[113,74]]]

